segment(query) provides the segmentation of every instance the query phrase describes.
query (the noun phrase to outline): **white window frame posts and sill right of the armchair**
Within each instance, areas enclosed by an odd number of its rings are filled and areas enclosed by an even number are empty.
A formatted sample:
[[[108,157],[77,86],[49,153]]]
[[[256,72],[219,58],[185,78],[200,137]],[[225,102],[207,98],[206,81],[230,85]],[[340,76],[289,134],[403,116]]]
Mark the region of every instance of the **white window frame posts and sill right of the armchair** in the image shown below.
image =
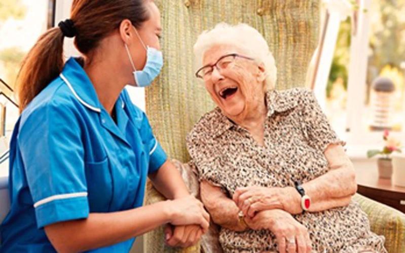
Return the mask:
[[[338,129],[341,138],[348,144],[348,151],[356,157],[365,157],[366,151],[373,148],[382,148],[382,131],[364,131],[363,125],[358,124],[359,116],[362,117],[366,110],[366,74],[368,65],[368,45],[371,35],[370,10],[372,0],[358,0],[359,6],[356,12],[357,20],[352,24],[353,31],[350,44],[350,61],[348,66],[346,125],[344,129]],[[320,39],[319,60],[315,66],[317,73],[311,84],[315,95],[322,107],[326,108],[326,83],[332,65],[333,54],[336,48],[337,35],[341,21],[346,20],[350,14],[339,12],[336,6],[326,6],[326,15],[323,33]],[[351,14],[353,18],[354,12]],[[321,29],[322,30],[322,29]],[[330,45],[332,44],[332,46]],[[327,75],[325,74],[327,73]],[[363,85],[358,85],[363,84]],[[405,102],[404,102],[405,106]],[[405,110],[405,109],[404,109]],[[404,113],[405,117],[405,113]],[[335,126],[333,126],[336,128]],[[405,126],[401,131],[392,131],[391,136],[405,143]]]

